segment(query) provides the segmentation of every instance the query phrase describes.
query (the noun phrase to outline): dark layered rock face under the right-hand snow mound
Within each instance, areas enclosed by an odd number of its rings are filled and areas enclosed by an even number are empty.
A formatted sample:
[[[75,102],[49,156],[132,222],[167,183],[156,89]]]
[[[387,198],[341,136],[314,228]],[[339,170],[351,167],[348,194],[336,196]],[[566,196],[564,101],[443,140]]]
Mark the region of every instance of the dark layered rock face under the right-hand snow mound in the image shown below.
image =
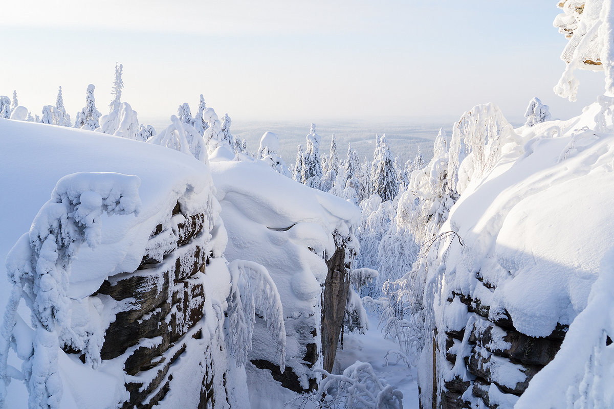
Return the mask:
[[[465,376],[444,378],[440,407],[472,408],[468,396],[491,409],[513,407],[534,375],[554,359],[568,326],[559,324],[548,337],[529,337],[515,329],[505,311],[489,319],[490,307],[480,299],[457,293],[448,302],[466,310],[467,325],[438,334],[441,343],[435,348],[445,345],[445,359]]]

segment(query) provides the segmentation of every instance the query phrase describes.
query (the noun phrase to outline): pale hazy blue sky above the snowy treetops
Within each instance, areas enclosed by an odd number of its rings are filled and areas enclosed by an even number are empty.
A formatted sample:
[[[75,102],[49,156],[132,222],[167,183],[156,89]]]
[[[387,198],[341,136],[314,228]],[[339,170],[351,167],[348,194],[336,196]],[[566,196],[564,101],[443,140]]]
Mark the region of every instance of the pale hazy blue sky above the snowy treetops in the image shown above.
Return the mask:
[[[603,93],[581,72],[578,102],[555,96],[567,40],[556,0],[47,0],[2,5],[0,94],[33,113],[62,86],[74,120],[96,86],[141,122],[169,118],[200,94],[233,120],[458,118],[494,102],[510,120],[538,96],[555,118]]]

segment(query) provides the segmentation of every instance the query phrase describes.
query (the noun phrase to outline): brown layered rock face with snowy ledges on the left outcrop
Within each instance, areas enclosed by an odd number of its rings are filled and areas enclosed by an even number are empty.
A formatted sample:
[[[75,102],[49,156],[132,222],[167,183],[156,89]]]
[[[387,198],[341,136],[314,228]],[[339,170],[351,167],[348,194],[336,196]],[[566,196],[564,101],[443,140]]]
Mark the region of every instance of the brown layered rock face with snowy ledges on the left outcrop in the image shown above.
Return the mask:
[[[198,408],[205,408],[216,400],[214,377],[223,377],[228,369],[228,359],[213,361],[225,346],[204,325],[220,319],[204,316],[216,313],[205,307],[204,288],[212,261],[208,248],[212,222],[203,213],[184,215],[179,203],[170,221],[152,232],[136,271],[110,277],[93,295],[107,300],[109,312],[120,311],[106,331],[101,357],[123,362],[130,394],[123,402],[126,409],[157,405],[173,389],[177,371],[194,369],[200,369],[192,382],[199,384]],[[196,361],[182,359],[185,356]]]

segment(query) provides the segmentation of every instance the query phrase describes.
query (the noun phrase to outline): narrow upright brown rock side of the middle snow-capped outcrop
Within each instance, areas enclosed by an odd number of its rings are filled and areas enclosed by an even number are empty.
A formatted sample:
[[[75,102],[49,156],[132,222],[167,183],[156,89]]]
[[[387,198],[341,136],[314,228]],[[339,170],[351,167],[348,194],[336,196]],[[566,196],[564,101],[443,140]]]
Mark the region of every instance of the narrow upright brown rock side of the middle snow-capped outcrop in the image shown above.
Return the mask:
[[[323,368],[332,372],[337,342],[343,326],[343,316],[349,291],[349,266],[346,249],[341,246],[327,260],[328,274],[322,292],[322,357]]]

